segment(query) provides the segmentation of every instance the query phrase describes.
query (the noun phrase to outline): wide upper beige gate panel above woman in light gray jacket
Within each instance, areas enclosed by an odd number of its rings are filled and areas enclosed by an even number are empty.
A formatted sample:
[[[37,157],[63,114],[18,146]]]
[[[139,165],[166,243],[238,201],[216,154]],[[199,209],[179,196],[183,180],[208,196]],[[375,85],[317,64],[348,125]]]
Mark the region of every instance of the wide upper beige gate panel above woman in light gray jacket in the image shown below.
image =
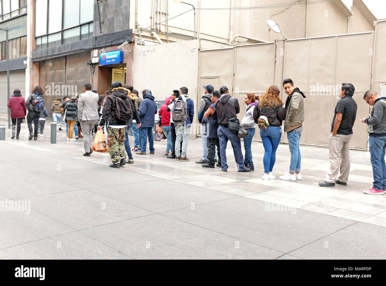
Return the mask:
[[[236,48],[235,91],[265,91],[273,84],[274,44]]]

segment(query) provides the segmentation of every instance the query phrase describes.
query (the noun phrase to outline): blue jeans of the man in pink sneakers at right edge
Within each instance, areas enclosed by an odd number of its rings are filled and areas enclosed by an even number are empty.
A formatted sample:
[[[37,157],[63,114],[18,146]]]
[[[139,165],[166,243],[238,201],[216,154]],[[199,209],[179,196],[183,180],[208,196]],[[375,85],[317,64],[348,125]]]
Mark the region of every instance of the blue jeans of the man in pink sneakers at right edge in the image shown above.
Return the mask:
[[[372,187],[376,190],[386,190],[385,150],[386,137],[369,137],[370,161],[372,166]]]

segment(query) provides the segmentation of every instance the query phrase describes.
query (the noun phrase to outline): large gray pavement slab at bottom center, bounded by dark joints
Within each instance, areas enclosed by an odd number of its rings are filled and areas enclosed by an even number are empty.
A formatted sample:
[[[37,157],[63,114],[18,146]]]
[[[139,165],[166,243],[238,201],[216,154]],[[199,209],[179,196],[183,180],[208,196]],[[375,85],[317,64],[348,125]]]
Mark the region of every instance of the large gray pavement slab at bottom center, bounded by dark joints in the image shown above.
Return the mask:
[[[283,255],[161,214],[81,232],[135,259],[274,259]]]

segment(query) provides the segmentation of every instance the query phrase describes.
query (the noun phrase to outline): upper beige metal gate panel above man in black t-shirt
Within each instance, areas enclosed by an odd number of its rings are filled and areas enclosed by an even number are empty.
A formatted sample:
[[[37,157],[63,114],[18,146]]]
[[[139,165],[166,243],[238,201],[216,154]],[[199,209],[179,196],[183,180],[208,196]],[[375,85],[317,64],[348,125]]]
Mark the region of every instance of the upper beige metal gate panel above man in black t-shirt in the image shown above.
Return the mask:
[[[338,37],[336,84],[351,82],[356,91],[369,89],[371,34]]]

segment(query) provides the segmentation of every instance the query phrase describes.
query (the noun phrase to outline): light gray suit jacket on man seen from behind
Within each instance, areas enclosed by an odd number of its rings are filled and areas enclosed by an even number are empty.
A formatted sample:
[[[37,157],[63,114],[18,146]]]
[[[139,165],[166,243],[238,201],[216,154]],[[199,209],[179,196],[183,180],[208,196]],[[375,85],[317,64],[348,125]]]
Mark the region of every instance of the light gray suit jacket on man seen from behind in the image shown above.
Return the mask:
[[[79,121],[98,120],[99,114],[97,111],[99,95],[88,90],[85,93],[79,94],[78,100],[78,118]]]

